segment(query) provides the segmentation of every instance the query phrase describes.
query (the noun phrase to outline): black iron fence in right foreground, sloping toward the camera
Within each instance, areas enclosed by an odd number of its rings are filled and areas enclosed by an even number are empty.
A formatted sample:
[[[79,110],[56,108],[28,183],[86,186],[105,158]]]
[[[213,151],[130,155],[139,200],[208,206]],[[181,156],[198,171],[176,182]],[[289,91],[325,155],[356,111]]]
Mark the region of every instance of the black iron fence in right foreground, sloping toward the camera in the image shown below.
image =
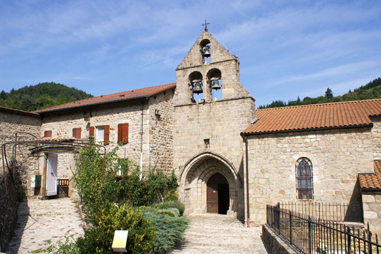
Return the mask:
[[[308,215],[290,212],[267,205],[267,225],[285,237],[302,253],[381,253],[378,235],[368,228],[359,229],[335,221],[314,219]]]

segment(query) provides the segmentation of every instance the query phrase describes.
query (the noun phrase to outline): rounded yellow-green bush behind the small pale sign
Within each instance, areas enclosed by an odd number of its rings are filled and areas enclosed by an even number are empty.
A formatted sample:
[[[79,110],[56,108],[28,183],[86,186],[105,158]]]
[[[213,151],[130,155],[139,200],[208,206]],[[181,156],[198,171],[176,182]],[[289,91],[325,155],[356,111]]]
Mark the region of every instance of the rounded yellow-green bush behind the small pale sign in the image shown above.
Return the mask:
[[[132,254],[148,253],[154,247],[156,230],[143,218],[143,212],[128,205],[112,205],[96,215],[98,226],[85,231],[85,237],[77,240],[82,254],[112,254],[115,230],[128,230],[127,251]]]

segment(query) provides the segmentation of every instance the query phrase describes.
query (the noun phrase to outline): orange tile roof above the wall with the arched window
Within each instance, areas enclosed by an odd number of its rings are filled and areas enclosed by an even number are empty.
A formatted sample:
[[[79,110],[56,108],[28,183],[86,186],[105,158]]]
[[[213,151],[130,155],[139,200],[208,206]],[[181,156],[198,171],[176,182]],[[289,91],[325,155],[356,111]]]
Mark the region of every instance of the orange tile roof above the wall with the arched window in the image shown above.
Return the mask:
[[[318,128],[370,126],[370,116],[381,116],[381,99],[346,101],[256,110],[258,121],[245,134],[279,133]]]

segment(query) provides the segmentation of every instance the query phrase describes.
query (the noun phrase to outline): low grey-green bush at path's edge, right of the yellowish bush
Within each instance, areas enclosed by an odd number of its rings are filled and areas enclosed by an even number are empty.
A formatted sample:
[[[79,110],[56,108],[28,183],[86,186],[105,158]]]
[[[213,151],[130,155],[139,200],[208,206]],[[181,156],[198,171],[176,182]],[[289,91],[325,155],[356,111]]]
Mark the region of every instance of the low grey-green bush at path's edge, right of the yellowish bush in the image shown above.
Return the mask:
[[[154,240],[156,253],[166,253],[175,248],[176,243],[183,239],[189,223],[185,217],[174,217],[154,210],[146,210],[143,217],[156,228]]]

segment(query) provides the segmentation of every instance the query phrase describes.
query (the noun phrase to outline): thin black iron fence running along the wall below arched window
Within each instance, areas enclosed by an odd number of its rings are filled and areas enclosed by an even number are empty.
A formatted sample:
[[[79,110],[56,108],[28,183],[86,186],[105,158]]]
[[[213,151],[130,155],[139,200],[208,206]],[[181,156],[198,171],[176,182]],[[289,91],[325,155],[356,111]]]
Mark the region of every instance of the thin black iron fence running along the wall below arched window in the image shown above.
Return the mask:
[[[280,203],[281,208],[326,221],[362,222],[362,205],[346,203]]]

